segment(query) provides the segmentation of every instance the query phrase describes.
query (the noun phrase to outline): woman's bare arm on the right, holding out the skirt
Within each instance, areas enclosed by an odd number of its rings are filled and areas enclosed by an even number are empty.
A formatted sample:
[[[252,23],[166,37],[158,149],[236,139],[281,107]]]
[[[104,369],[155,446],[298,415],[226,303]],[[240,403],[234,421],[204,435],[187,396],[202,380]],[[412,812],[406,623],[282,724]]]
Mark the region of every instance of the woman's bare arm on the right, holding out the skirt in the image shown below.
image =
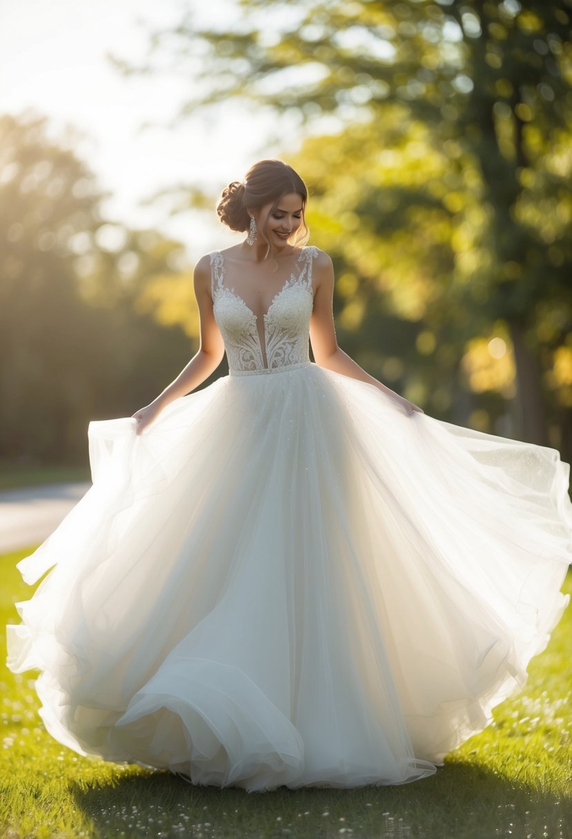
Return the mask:
[[[334,373],[341,373],[350,378],[356,378],[360,382],[367,382],[374,385],[386,393],[387,396],[392,396],[405,408],[421,411],[421,409],[399,396],[398,393],[387,388],[386,385],[377,381],[369,373],[357,364],[353,358],[347,355],[341,347],[338,347],[338,342],[335,337],[334,326],[334,266],[327,253],[319,252],[319,256],[314,263],[314,276],[317,280],[314,295],[314,310],[309,325],[309,339],[312,344],[312,352],[316,364],[320,367],[325,367],[327,370],[332,370]],[[423,411],[421,411],[423,413]]]

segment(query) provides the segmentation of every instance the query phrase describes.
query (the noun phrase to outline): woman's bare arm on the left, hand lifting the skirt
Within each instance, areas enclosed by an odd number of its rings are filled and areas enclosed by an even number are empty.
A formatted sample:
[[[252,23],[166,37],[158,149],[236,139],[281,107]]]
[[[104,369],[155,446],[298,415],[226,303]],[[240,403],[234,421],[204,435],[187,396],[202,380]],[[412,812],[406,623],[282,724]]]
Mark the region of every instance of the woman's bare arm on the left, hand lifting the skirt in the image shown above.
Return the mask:
[[[138,433],[145,425],[153,421],[154,417],[164,409],[165,405],[173,402],[198,388],[205,379],[214,373],[222,361],[225,347],[221,332],[216,325],[212,311],[211,298],[211,259],[208,254],[201,257],[195,266],[194,287],[200,315],[200,347],[190,359],[177,378],[171,382],[162,393],[159,393],[147,407],[136,411],[133,417],[139,420]]]

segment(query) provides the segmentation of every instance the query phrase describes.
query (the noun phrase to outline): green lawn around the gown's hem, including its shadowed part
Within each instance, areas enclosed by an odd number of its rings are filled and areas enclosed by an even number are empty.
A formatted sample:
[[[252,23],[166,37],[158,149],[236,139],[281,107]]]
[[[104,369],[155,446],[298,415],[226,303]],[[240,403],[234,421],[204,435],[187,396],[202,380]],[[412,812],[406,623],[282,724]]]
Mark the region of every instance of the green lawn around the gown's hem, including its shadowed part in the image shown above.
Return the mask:
[[[2,661],[13,602],[27,600],[0,557]],[[572,591],[572,573],[566,591]],[[0,836],[226,836],[368,839],[568,839],[572,836],[572,608],[533,659],[523,692],[494,722],[413,784],[247,793],[193,787],[164,772],[82,758],[45,732],[34,672],[2,682]]]

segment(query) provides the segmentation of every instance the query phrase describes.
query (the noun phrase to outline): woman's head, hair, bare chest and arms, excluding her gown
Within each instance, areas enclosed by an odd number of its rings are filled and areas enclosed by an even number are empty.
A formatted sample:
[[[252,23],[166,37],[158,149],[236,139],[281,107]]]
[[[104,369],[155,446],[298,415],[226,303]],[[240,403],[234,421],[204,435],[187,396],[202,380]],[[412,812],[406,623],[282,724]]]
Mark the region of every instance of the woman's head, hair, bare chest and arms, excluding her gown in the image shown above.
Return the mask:
[[[304,221],[306,201],[306,186],[298,173],[280,161],[270,160],[252,167],[246,185],[234,181],[226,187],[217,207],[221,221],[231,230],[248,231],[244,242],[221,253],[230,266],[234,283],[242,289],[243,297],[252,301],[250,309],[257,322],[255,343],[260,342],[258,361],[263,367],[267,366],[264,363],[263,313],[268,311],[271,301],[281,290],[282,278],[296,267],[300,256],[300,248],[296,246],[308,239]],[[315,362],[320,367],[368,382],[382,393],[391,394],[394,401],[407,411],[423,413],[418,406],[368,375],[338,347],[332,315],[334,269],[327,253],[317,248],[314,250],[314,306],[309,338]],[[165,404],[198,387],[222,361],[225,346],[213,313],[211,258],[208,254],[200,258],[195,266],[195,297],[200,311],[200,350],[152,404],[133,414],[139,423],[138,434],[154,420]]]

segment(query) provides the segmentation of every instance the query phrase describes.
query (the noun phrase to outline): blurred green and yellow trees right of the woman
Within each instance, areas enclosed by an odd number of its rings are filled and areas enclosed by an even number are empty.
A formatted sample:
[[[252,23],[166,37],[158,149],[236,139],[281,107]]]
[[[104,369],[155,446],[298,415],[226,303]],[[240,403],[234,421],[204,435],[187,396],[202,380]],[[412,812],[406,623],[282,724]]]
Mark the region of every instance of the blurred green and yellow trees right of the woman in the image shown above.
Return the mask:
[[[277,135],[295,117],[341,345],[430,413],[570,460],[570,0],[238,5],[117,66],[192,68],[182,117],[232,96]]]

